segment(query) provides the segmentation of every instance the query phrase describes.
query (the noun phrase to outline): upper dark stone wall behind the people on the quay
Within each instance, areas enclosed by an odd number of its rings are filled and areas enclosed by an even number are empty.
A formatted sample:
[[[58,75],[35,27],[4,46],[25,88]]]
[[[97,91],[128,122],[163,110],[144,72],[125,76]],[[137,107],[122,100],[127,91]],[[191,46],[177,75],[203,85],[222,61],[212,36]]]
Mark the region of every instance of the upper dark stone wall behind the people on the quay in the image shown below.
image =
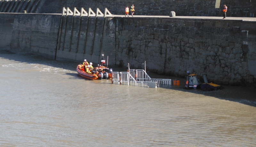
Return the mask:
[[[217,5],[216,5],[217,1]],[[255,0],[0,0],[0,12],[27,13],[62,13],[62,7],[71,10],[82,7],[88,11],[92,8],[108,10],[115,15],[124,15],[126,6],[135,6],[135,15],[169,15],[175,11],[176,16],[222,16],[223,4],[228,6],[228,17],[256,17]],[[217,8],[216,8],[216,6]]]

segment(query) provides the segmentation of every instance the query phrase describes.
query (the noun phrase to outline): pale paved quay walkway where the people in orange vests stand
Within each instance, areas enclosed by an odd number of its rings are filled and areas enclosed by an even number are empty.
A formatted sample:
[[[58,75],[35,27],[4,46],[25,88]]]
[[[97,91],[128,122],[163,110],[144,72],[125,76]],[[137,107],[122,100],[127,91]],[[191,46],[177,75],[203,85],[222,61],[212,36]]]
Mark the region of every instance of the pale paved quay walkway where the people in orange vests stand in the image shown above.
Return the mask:
[[[125,17],[124,15],[113,15],[114,17]],[[126,16],[127,17],[127,16]],[[132,18],[132,15],[129,15]],[[191,18],[191,19],[222,19],[223,17],[209,17],[209,16],[151,16],[151,15],[133,15],[133,17],[160,17],[160,18]],[[225,19],[223,19],[225,20]],[[243,21],[256,21],[254,17],[227,17],[226,20],[243,20]]]

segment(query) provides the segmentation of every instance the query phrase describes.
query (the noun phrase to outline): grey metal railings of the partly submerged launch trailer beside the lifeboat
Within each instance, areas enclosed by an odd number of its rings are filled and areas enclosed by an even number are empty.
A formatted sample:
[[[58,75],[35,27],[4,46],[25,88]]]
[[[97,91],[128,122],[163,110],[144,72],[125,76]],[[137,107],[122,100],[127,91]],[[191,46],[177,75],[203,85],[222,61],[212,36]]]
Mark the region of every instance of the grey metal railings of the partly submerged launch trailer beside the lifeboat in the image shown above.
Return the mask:
[[[160,84],[172,85],[171,79],[152,79],[145,70],[129,70],[129,72],[112,72],[112,84],[134,85],[148,87],[148,82],[157,82]]]

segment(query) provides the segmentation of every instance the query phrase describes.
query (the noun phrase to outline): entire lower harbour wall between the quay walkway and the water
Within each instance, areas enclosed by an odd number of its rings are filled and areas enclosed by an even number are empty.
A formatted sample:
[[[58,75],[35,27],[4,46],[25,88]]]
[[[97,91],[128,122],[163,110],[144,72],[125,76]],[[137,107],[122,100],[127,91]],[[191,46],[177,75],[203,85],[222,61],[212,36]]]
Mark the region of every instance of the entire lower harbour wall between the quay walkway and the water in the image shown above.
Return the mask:
[[[255,21],[79,17],[0,13],[0,48],[56,60],[127,63],[159,74],[207,74],[228,85],[256,83]]]

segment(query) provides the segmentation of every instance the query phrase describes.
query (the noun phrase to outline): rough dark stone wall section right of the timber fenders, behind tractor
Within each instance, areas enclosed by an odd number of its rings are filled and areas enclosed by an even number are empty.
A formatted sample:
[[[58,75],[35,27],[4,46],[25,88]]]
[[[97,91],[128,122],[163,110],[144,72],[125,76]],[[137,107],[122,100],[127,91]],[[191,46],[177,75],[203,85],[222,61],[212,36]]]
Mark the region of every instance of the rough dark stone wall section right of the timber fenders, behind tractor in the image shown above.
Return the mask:
[[[116,64],[210,81],[256,82],[255,22],[183,18],[116,18]]]

